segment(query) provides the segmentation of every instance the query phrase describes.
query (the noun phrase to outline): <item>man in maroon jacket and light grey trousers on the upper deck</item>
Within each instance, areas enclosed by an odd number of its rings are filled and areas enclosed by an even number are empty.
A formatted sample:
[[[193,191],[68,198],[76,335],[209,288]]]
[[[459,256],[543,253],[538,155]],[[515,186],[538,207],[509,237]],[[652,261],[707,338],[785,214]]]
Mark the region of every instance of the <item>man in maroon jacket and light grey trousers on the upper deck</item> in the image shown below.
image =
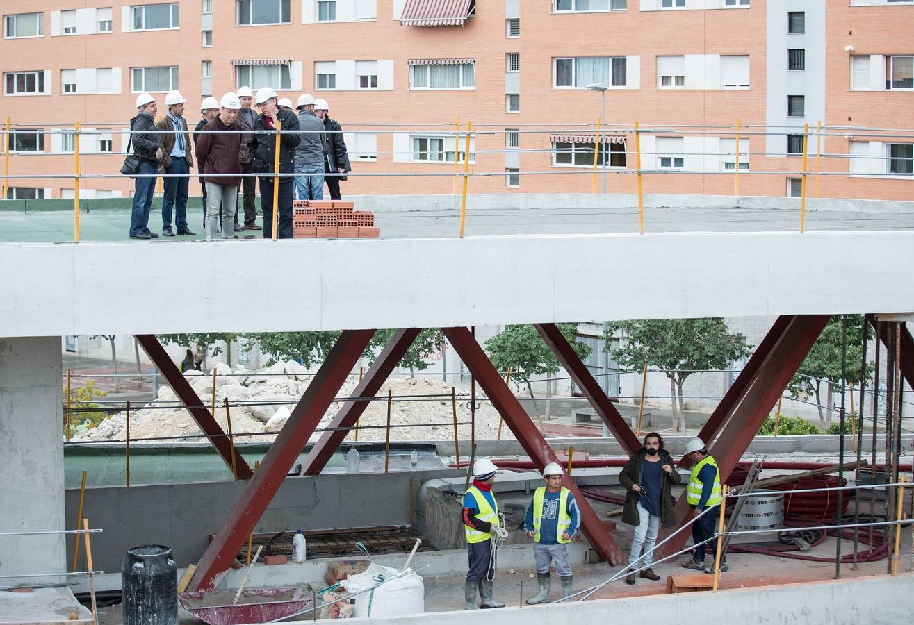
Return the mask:
[[[241,127],[235,122],[241,102],[229,91],[219,101],[219,114],[207,123],[197,143],[197,159],[202,162],[207,184],[207,238],[216,238],[219,207],[222,207],[222,238],[235,236],[235,203],[238,202],[241,163]]]

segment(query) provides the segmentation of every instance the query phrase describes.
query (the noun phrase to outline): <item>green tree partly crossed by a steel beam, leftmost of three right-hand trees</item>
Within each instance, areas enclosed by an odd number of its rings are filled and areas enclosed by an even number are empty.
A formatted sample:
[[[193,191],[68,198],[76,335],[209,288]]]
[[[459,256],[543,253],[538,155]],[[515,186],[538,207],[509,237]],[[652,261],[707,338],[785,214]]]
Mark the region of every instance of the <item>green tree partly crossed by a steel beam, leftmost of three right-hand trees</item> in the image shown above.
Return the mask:
[[[577,323],[558,323],[558,330],[571,344],[580,358],[590,355],[590,345],[578,340]],[[489,354],[492,364],[499,371],[507,371],[511,367],[511,376],[517,380],[526,381],[530,398],[534,399],[533,387],[530,378],[546,376],[547,403],[546,418],[551,412],[552,376],[558,372],[559,363],[556,355],[549,349],[537,329],[529,323],[521,325],[505,325],[501,333],[494,335],[485,342],[485,351]],[[536,408],[536,403],[534,404]]]

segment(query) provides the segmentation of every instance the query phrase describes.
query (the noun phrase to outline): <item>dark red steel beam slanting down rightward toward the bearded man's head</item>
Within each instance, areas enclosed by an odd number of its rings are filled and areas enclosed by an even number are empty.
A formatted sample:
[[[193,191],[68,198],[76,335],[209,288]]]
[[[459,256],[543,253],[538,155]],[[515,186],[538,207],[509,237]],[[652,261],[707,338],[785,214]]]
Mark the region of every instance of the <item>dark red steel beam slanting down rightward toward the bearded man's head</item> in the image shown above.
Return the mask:
[[[587,365],[581,362],[579,356],[575,354],[574,348],[569,344],[568,339],[561,333],[555,323],[534,323],[537,332],[546,341],[549,349],[558,358],[558,362],[569,372],[569,376],[575,384],[584,392],[584,397],[590,402],[590,406],[597,411],[603,423],[612,432],[612,436],[619,441],[622,451],[631,456],[635,451],[641,449],[641,443],[638,437],[632,432],[632,428],[625,422],[619,410],[612,405],[609,397],[600,388],[600,384],[590,374]]]

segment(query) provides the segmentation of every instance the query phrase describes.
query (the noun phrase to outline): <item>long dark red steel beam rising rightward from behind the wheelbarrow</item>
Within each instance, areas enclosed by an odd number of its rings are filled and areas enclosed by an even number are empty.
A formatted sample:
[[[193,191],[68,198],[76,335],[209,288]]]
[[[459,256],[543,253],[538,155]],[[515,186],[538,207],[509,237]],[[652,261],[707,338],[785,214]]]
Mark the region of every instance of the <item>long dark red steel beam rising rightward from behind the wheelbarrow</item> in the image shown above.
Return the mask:
[[[374,330],[346,330],[340,334],[260,462],[260,468],[197,563],[197,572],[190,581],[191,590],[212,588],[213,578],[231,565],[374,334]]]

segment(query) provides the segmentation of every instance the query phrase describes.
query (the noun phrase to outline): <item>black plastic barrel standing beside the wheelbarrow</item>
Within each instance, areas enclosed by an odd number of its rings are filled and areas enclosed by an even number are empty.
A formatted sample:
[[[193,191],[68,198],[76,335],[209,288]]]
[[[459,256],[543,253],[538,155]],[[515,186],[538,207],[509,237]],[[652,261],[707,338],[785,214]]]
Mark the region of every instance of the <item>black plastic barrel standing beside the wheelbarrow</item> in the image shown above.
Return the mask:
[[[124,625],[177,625],[177,567],[171,547],[135,546],[121,567]]]

